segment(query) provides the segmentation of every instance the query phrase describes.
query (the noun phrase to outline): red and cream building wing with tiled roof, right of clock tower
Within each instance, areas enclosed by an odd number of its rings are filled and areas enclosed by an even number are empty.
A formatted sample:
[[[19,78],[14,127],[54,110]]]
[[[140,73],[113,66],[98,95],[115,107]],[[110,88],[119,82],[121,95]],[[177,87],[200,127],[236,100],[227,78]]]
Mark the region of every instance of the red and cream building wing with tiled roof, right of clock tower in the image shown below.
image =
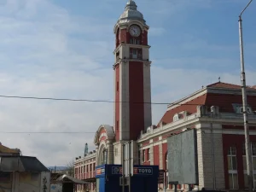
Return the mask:
[[[254,162],[256,89],[248,88],[247,95],[247,113]],[[159,165],[160,169],[166,170],[168,176],[166,137],[188,129],[196,129],[199,186],[195,188],[214,189],[215,180],[215,189],[246,189],[247,168],[241,107],[241,86],[222,82],[210,84],[172,103],[168,106],[159,124],[142,131],[140,139],[137,140],[143,165]],[[213,140],[211,140],[212,134]],[[212,166],[215,168],[215,174]],[[255,174],[255,163],[253,163],[253,170]],[[166,180],[168,182],[168,177]],[[160,188],[163,189],[162,184]],[[166,188],[173,189],[173,186],[166,183]],[[188,186],[178,185],[178,189],[186,190]]]

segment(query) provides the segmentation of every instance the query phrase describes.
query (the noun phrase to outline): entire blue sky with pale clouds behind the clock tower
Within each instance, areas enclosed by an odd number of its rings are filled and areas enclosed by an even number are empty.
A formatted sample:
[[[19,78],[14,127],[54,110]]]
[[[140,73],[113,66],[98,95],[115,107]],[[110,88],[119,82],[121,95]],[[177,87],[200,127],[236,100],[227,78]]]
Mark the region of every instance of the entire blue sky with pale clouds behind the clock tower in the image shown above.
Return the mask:
[[[238,15],[247,0],[137,0],[149,29],[152,101],[240,84]],[[113,101],[113,26],[126,0],[0,0],[0,95]],[[247,84],[256,84],[256,2],[243,15]],[[153,106],[158,123],[166,105]],[[94,149],[113,103],[0,98],[0,141],[45,166]],[[73,134],[6,131],[84,131]]]

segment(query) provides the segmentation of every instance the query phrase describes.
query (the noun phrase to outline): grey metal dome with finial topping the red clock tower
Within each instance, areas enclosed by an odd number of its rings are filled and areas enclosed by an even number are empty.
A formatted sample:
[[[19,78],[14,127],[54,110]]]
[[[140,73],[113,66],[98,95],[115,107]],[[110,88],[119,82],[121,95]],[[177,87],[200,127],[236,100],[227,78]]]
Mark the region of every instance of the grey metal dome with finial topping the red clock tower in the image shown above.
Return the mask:
[[[119,23],[129,22],[130,20],[146,22],[146,20],[143,19],[143,14],[137,10],[137,4],[133,0],[129,0],[126,3],[125,11],[119,17]]]

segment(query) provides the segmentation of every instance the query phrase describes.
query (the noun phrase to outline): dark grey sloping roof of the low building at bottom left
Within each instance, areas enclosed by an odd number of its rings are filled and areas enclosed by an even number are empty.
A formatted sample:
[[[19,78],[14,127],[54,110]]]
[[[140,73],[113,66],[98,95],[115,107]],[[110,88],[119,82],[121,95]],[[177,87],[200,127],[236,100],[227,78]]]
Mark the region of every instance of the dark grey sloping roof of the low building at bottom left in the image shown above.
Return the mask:
[[[36,157],[2,156],[0,172],[49,172]]]

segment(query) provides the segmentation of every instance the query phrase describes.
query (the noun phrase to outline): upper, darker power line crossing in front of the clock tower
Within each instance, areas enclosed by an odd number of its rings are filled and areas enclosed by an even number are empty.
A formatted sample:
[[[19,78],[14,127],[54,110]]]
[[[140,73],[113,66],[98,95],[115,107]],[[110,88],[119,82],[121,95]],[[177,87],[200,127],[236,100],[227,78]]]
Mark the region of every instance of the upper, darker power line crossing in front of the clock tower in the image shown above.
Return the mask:
[[[38,96],[5,96],[0,95],[0,97],[3,98],[15,98],[15,99],[33,99],[33,100],[51,100],[51,101],[67,101],[67,102],[110,102],[114,103],[114,101],[108,101],[108,100],[90,100],[90,99],[69,99],[69,98],[55,98],[55,97],[38,97]],[[122,102],[120,102],[122,103]],[[175,103],[175,102],[125,102],[125,103],[135,103],[135,104],[154,104],[154,105],[201,105],[201,103]]]

